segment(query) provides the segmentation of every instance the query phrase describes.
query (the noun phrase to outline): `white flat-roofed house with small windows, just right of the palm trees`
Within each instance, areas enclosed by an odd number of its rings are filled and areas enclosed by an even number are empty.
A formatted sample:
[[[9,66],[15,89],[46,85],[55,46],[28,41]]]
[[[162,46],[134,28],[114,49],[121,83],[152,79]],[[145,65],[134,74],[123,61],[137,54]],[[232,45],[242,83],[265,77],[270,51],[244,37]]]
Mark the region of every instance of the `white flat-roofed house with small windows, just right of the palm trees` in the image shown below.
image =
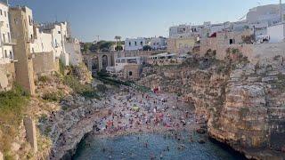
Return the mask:
[[[126,38],[125,40],[125,51],[137,51],[142,50],[143,46],[147,45],[146,38]]]

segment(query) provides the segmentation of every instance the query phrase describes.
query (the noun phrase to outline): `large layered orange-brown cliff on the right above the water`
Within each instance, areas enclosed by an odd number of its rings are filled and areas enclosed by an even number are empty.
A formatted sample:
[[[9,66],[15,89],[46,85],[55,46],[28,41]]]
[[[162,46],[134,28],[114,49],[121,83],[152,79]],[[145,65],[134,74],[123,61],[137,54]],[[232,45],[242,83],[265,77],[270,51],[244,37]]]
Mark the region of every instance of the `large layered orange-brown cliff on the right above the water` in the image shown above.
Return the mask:
[[[191,60],[192,62],[193,60]],[[205,60],[199,60],[198,65]],[[209,64],[209,63],[208,63]],[[285,67],[281,60],[232,69],[215,61],[208,68],[144,68],[139,84],[175,92],[208,117],[208,134],[248,157],[284,158]],[[266,150],[267,156],[252,150]],[[272,152],[280,151],[278,154]],[[277,156],[276,156],[277,155]]]

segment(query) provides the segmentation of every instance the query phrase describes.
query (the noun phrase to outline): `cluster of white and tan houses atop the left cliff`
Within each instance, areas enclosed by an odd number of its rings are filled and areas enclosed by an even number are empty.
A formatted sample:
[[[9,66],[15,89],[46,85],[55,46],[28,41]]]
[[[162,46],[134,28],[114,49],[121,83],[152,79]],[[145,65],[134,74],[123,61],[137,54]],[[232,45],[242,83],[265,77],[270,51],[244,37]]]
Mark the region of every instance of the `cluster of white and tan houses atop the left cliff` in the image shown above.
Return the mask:
[[[0,3],[0,91],[13,82],[35,94],[35,80],[65,65],[82,62],[80,44],[71,36],[68,22],[37,24],[27,6]]]

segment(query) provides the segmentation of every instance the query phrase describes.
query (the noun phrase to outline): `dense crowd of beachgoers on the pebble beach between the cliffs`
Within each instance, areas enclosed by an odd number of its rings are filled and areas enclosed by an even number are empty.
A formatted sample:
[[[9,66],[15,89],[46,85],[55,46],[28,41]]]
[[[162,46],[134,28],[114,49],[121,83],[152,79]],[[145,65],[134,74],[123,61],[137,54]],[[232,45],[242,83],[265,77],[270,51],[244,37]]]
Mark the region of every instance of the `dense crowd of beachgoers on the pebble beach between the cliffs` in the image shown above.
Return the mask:
[[[95,122],[96,135],[191,130],[195,127],[189,104],[175,94],[122,88],[119,94],[110,95],[106,105],[110,106],[109,113]]]

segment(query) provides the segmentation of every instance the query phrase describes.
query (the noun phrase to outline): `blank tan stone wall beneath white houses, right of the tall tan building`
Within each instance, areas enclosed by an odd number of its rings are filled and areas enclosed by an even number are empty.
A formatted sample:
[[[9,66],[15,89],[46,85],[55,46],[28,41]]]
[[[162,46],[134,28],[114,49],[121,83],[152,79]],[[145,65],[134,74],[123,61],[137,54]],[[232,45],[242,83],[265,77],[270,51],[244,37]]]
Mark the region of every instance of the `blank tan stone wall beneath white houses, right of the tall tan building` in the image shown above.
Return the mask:
[[[50,75],[53,71],[56,71],[53,52],[37,52],[33,56],[33,68],[36,76]]]

